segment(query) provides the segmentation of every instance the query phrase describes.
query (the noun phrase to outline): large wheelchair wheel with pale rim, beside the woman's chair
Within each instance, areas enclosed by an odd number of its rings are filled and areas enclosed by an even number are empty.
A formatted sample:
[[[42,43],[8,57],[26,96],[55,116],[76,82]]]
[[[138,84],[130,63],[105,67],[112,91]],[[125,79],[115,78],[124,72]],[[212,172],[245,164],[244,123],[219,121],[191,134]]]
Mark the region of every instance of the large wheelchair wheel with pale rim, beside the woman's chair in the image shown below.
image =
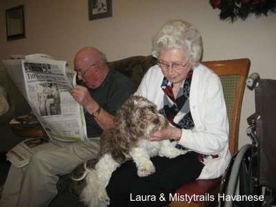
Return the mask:
[[[255,207],[259,201],[248,199],[260,195],[261,188],[256,185],[257,153],[251,144],[244,145],[228,164],[224,183],[221,184],[219,206]]]

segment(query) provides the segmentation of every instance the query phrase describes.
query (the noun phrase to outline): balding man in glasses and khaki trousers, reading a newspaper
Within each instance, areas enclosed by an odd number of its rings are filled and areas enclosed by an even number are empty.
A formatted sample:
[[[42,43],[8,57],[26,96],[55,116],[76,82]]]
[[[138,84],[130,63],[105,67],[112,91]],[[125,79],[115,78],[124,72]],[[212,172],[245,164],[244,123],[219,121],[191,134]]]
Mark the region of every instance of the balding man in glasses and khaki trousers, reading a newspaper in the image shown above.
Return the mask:
[[[99,137],[113,126],[115,112],[133,92],[130,79],[108,68],[106,55],[86,47],[75,55],[75,71],[87,87],[76,86],[70,94],[84,108],[90,141],[76,141],[37,152],[26,168],[11,166],[0,206],[48,206],[57,195],[59,175],[93,159],[99,152]]]

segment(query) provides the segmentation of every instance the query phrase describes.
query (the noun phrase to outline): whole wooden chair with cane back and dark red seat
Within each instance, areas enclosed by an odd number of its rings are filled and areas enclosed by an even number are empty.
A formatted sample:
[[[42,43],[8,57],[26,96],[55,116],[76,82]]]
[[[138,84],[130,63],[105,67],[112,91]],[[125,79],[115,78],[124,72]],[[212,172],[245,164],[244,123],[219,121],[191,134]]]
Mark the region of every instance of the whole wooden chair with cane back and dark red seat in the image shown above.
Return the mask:
[[[238,150],[239,144],[239,119],[242,110],[242,99],[246,79],[250,68],[249,59],[230,59],[221,61],[202,61],[205,66],[212,69],[221,79],[224,90],[224,99],[229,119],[229,150],[233,155]],[[197,179],[181,186],[179,195],[212,195],[217,197],[221,178]],[[172,201],[171,207],[208,206],[211,201]]]

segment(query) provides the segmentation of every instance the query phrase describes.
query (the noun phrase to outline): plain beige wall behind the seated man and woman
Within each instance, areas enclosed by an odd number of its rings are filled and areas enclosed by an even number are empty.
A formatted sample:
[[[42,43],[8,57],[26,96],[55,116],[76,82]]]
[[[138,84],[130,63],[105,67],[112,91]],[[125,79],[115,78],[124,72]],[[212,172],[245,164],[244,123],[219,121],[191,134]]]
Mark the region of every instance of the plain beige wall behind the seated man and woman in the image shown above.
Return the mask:
[[[5,10],[26,5],[26,39],[6,41]],[[246,21],[220,21],[208,0],[113,0],[113,17],[88,21],[88,0],[1,0],[0,59],[45,53],[73,67],[75,52],[95,46],[110,61],[150,55],[151,37],[169,19],[194,23],[204,40],[204,60],[248,57],[250,72],[276,79],[276,14]],[[1,66],[1,69],[3,67]],[[0,70],[1,70],[0,69]],[[239,146],[246,137],[246,118],[254,112],[253,91],[246,88]]]

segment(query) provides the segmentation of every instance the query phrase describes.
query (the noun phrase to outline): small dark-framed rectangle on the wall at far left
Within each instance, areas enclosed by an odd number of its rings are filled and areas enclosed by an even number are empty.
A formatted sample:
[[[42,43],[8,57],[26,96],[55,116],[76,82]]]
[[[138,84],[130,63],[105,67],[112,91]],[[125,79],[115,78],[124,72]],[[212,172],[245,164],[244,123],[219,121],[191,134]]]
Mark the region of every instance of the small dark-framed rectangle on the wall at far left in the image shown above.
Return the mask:
[[[25,38],[24,5],[6,10],[7,40]]]

